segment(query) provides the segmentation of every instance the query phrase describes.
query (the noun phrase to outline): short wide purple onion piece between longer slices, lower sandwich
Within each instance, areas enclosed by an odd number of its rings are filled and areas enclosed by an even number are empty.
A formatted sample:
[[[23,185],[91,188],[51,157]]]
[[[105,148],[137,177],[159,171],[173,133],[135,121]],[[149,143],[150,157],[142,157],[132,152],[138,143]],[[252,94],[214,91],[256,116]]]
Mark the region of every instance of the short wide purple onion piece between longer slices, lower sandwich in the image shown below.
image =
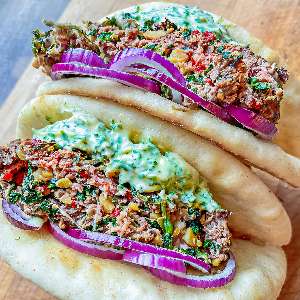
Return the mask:
[[[159,268],[174,273],[186,274],[186,267],[183,260],[173,259],[171,257],[159,256],[152,253],[145,253],[137,250],[126,249],[123,259],[138,265]]]

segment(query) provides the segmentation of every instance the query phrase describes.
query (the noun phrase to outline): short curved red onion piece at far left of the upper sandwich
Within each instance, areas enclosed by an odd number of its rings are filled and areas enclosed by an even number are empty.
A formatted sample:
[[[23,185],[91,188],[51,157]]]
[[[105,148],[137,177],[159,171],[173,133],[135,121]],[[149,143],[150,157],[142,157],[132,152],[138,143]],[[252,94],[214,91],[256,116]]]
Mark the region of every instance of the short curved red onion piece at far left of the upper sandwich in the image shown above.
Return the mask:
[[[82,48],[70,48],[65,51],[59,62],[64,64],[74,63],[91,67],[108,68],[108,64],[103,60],[103,58],[93,51]]]

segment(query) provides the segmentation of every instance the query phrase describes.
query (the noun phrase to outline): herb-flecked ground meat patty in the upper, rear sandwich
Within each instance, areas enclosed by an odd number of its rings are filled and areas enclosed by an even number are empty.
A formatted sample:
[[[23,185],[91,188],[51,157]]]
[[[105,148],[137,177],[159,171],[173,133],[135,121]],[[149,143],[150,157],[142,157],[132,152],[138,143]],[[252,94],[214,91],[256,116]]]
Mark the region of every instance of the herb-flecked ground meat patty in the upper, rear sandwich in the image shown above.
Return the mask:
[[[166,29],[167,20],[154,24],[154,31],[143,32],[133,19],[125,22],[124,30],[107,23],[87,22],[82,30],[85,36],[76,29],[54,28],[40,38],[44,48],[40,47],[40,40],[33,43],[37,49],[33,65],[43,66],[49,75],[52,64],[59,62],[70,47],[91,50],[107,62],[128,47],[150,49],[175,64],[185,76],[187,87],[201,97],[247,108],[273,124],[278,121],[282,84],[289,78],[289,72],[282,67],[255,55],[244,44],[219,41],[212,32],[178,29],[174,24]],[[160,33],[155,33],[158,30]],[[183,105],[198,107],[187,98]]]

